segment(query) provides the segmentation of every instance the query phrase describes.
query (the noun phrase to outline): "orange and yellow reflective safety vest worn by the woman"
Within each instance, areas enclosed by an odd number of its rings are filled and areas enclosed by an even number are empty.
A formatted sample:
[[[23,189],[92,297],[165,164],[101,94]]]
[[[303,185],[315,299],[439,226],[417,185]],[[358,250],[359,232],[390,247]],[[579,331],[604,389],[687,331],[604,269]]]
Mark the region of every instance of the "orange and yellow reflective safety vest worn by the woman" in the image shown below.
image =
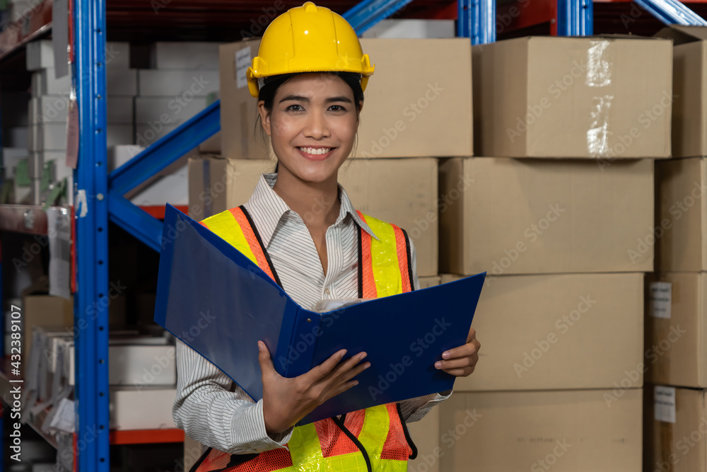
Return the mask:
[[[409,292],[413,278],[405,231],[361,212],[358,216],[379,238],[375,240],[364,229],[359,231],[358,297],[387,297]],[[235,246],[282,287],[243,205],[215,214],[200,224]],[[407,459],[417,456],[399,403],[296,426],[286,446],[288,449],[271,449],[259,454],[228,454],[209,447],[190,472],[406,472]]]

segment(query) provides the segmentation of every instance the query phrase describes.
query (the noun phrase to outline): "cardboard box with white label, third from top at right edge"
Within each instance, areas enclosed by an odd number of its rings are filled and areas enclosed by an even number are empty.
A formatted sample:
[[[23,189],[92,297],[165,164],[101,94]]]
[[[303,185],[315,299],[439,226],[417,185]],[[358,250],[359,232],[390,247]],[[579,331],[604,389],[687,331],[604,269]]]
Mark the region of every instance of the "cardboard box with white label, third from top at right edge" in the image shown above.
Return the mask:
[[[707,388],[707,272],[648,274],[646,380]]]

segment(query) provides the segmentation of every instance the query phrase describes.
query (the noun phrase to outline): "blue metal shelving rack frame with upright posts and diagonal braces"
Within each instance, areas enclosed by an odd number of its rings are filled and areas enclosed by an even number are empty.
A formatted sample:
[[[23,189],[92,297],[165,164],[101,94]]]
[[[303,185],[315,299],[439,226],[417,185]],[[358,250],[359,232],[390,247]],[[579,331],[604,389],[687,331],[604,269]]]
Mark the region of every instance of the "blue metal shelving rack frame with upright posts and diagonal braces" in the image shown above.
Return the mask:
[[[411,0],[365,0],[344,16],[358,33],[395,13]],[[557,0],[560,35],[592,34],[591,0]],[[677,0],[636,0],[665,23],[707,25]],[[107,313],[89,316],[94,301],[107,297],[107,224],[122,226],[156,251],[162,223],[123,195],[179,159],[220,129],[219,103],[156,142],[107,175],[105,105],[105,0],[76,0],[76,81],[80,117],[78,168],[74,171],[76,202],[77,294],[75,297],[76,414],[78,471],[108,472],[108,328]],[[496,40],[496,1],[458,0],[457,35],[473,44]],[[85,198],[84,198],[85,197]]]

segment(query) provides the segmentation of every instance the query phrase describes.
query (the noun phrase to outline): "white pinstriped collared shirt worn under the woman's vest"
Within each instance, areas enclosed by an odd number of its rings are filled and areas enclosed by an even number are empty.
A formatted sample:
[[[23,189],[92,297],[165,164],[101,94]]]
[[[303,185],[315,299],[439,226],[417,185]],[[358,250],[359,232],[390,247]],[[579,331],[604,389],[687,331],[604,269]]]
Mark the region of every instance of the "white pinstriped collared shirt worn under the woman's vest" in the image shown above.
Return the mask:
[[[272,190],[276,179],[276,173],[262,174],[245,208],[267,248],[285,292],[300,306],[310,309],[321,299],[357,298],[359,226],[372,237],[378,237],[358,217],[349,196],[339,184],[341,209],[337,221],[326,231],[328,269],[325,275],[317,248],[305,225],[305,219],[310,215],[305,214],[303,219],[288,207]],[[315,205],[312,214],[323,209]],[[412,241],[410,246],[412,283],[415,289],[419,289]],[[403,418],[407,422],[421,420],[451,393],[450,390],[400,402]],[[252,454],[285,447],[293,431],[290,427],[279,434],[268,434],[262,400],[254,402],[243,388],[180,340],[177,340],[177,398],[172,413],[175,424],[185,430],[187,436],[229,454]]]

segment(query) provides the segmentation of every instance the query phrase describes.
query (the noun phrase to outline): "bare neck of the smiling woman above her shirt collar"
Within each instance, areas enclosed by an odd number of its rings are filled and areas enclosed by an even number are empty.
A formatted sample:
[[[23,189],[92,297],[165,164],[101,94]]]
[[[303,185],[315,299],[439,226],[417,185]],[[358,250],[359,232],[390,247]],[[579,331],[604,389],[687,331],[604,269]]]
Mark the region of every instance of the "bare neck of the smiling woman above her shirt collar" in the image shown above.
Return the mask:
[[[273,190],[307,226],[328,228],[339,217],[337,174],[324,182],[307,182],[280,166]]]

